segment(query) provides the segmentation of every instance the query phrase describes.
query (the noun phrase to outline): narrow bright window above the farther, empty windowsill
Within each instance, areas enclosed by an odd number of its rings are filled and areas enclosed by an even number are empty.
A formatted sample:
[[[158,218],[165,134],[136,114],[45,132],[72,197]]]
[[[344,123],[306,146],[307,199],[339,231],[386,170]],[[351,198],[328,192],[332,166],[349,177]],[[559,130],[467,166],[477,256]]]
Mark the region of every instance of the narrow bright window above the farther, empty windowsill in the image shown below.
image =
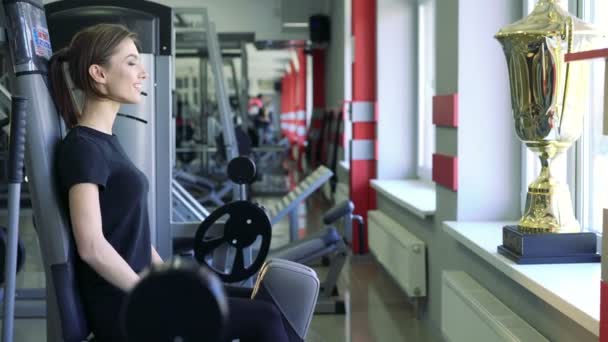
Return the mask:
[[[418,178],[432,178],[435,150],[435,0],[418,0]]]

